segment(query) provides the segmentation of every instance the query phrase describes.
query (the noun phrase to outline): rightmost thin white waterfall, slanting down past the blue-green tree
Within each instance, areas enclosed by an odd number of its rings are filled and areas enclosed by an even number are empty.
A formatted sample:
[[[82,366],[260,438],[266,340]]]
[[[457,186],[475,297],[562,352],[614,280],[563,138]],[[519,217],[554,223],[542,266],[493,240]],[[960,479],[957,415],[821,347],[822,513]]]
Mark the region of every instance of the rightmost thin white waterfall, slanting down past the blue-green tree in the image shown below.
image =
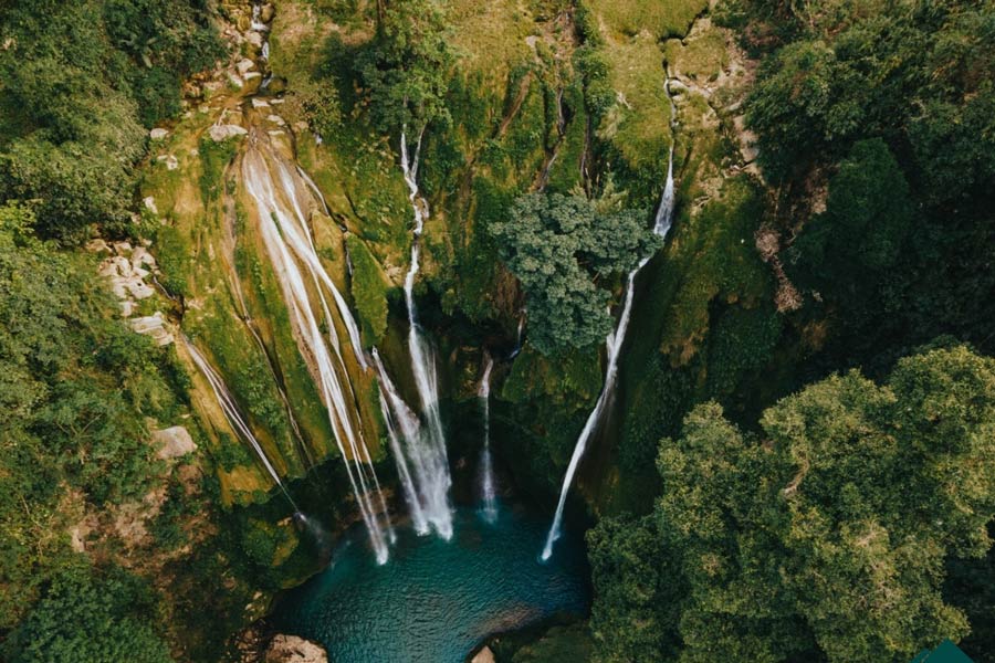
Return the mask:
[[[673,98],[670,96],[669,74],[663,82],[663,91],[667,94],[668,101],[670,102],[670,126],[671,136],[673,136],[673,118],[675,116],[677,108],[673,104]],[[663,193],[660,197],[660,207],[657,210],[657,214],[653,220],[653,232],[661,238],[666,238],[667,233],[670,231],[671,217],[673,215],[673,140],[671,140],[667,164],[667,180],[663,185]],[[556,515],[553,516],[553,524],[549,526],[548,535],[546,535],[546,545],[543,548],[542,554],[543,560],[549,559],[549,557],[553,556],[553,545],[556,543],[556,539],[559,538],[559,530],[563,526],[563,507],[566,504],[567,493],[569,492],[570,484],[574,481],[574,474],[576,474],[577,466],[580,464],[580,459],[584,456],[584,452],[587,450],[587,443],[590,440],[590,436],[597,429],[597,425],[600,422],[605,410],[611,402],[611,397],[615,394],[616,378],[618,377],[618,356],[621,351],[622,345],[625,344],[626,332],[628,332],[629,328],[629,317],[632,314],[632,299],[635,297],[636,290],[636,275],[639,274],[639,271],[642,270],[647,262],[649,262],[649,259],[643,257],[641,261],[639,261],[639,264],[636,266],[636,269],[629,272],[628,278],[626,280],[626,301],[622,305],[622,312],[618,320],[618,326],[614,332],[608,334],[608,338],[605,339],[605,346],[608,352],[608,367],[605,371],[605,383],[601,386],[601,392],[598,394],[598,400],[595,403],[594,410],[591,410],[590,414],[587,417],[587,421],[584,423],[584,429],[580,431],[580,436],[577,438],[577,442],[574,446],[574,453],[570,456],[569,464],[567,465],[566,475],[563,478],[563,487],[559,491],[559,502],[557,502],[556,504]]]

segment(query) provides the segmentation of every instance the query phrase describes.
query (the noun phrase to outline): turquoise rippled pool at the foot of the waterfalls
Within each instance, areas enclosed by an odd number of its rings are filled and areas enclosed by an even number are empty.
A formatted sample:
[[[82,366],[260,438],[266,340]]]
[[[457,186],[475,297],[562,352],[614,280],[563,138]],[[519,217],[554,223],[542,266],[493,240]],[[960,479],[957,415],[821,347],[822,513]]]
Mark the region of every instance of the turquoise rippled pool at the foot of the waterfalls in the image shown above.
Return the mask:
[[[353,529],[332,566],[293,590],[274,621],[323,643],[335,663],[460,663],[493,633],[586,613],[583,545],[565,534],[541,562],[545,524],[506,508],[489,524],[460,509],[452,540],[401,530],[385,566]]]

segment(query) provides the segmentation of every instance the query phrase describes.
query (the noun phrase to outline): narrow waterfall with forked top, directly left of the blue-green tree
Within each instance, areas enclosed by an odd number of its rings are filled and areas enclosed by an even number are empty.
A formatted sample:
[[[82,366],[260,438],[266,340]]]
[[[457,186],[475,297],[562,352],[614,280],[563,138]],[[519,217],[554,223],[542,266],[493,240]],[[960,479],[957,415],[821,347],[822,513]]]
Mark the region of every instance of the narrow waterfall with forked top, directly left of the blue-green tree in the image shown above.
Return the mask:
[[[444,518],[437,525],[437,532],[446,539],[452,537],[452,509],[449,506],[449,487],[452,480],[449,474],[449,457],[446,451],[446,436],[442,432],[442,418],[439,413],[439,388],[436,376],[434,357],[432,349],[425,339],[421,326],[418,324],[418,309],[415,305],[415,277],[418,275],[419,257],[421,255],[421,232],[425,230],[425,219],[428,217],[428,203],[418,193],[418,158],[421,152],[421,137],[423,129],[418,135],[418,144],[415,154],[408,157],[408,141],[405,131],[400,136],[401,171],[405,183],[408,185],[408,200],[415,214],[415,236],[411,240],[411,264],[405,276],[405,303],[408,307],[408,351],[411,355],[411,372],[415,377],[415,387],[421,401],[425,427],[421,445],[426,448],[431,462],[427,466],[429,474],[425,477],[425,487],[433,497],[440,493],[444,502]],[[440,505],[436,505],[440,506]],[[441,513],[436,514],[441,516]]]

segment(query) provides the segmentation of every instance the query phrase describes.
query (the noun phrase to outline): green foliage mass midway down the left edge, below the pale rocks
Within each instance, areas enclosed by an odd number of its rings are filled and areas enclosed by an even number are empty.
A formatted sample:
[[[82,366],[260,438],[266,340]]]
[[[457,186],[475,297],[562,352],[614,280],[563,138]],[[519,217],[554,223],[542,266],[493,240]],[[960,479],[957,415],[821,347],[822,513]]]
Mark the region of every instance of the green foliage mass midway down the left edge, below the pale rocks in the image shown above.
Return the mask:
[[[56,505],[144,495],[158,471],[146,417],[178,407],[167,350],[116,317],[88,259],[35,239],[0,207],[0,628],[63,564]]]

